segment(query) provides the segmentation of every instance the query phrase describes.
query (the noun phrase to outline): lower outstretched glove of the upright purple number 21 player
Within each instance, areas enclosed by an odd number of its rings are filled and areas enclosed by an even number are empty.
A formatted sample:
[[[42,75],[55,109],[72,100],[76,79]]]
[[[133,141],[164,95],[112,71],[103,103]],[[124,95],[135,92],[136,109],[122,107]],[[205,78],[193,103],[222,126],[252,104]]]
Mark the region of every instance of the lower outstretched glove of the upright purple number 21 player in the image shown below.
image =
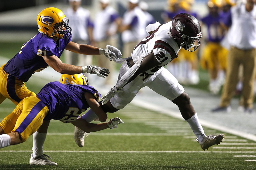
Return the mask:
[[[102,77],[102,78],[108,77],[107,74],[110,73],[108,69],[93,66],[93,65],[82,66],[82,72],[90,73],[90,74],[97,74],[97,76]]]

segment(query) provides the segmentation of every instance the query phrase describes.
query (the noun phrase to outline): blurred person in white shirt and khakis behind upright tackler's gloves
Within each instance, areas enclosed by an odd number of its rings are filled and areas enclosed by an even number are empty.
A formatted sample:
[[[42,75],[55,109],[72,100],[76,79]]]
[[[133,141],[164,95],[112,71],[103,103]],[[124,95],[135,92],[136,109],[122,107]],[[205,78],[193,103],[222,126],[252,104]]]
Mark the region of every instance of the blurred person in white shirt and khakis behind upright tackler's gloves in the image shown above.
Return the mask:
[[[122,23],[122,18],[117,11],[109,6],[109,0],[100,0],[101,10],[96,14],[94,20],[93,37],[98,47],[106,48],[106,45],[117,46],[117,30]],[[108,59],[97,58],[97,64],[111,71],[115,70],[115,63]],[[105,79],[105,85],[112,85],[113,74]]]

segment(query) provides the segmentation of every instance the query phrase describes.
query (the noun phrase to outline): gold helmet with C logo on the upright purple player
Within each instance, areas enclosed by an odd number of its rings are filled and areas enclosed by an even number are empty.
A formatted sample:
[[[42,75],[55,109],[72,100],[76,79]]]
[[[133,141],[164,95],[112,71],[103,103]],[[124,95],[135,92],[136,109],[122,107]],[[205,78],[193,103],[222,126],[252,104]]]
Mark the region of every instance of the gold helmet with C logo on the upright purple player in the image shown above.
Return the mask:
[[[38,14],[36,21],[40,33],[59,39],[71,39],[68,18],[58,8],[45,8]]]

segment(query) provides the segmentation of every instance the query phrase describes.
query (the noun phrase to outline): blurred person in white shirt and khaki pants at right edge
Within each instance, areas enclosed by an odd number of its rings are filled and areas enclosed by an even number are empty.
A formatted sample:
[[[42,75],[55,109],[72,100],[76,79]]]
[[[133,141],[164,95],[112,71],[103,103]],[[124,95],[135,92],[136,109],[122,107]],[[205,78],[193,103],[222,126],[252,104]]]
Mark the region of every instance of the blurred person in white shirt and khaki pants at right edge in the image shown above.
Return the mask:
[[[252,113],[254,99],[254,80],[256,75],[256,0],[231,7],[230,17],[224,22],[230,26],[228,42],[228,65],[225,83],[218,107],[212,112],[231,111],[230,102],[238,82],[239,66],[243,67],[243,90],[239,107],[245,113]]]

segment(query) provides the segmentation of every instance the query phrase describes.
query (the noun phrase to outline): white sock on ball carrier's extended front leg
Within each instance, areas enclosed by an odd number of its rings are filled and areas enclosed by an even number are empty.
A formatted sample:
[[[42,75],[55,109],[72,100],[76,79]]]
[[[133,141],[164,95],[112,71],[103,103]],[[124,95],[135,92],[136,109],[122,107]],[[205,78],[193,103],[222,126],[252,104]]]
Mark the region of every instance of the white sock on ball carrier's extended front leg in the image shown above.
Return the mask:
[[[206,135],[204,134],[204,129],[203,129],[201,123],[199,122],[197,113],[195,113],[195,115],[193,115],[192,117],[190,117],[189,119],[187,119],[185,121],[188,122],[190,128],[193,130],[193,132],[196,135],[196,137],[198,138],[199,142],[203,141],[203,139],[204,139],[204,137],[206,137]]]

